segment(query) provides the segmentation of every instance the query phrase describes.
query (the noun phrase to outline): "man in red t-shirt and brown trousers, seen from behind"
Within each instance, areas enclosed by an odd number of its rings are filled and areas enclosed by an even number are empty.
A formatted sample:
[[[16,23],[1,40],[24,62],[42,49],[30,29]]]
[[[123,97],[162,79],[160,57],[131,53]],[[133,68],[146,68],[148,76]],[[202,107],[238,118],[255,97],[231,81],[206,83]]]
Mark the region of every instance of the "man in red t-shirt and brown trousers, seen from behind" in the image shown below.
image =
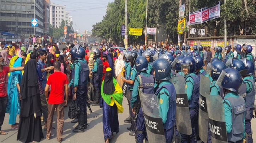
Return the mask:
[[[50,139],[53,125],[54,110],[57,112],[57,141],[62,141],[63,126],[64,126],[64,106],[67,105],[69,96],[69,80],[67,75],[60,72],[60,62],[54,62],[55,72],[51,74],[44,89],[46,100],[48,101],[48,119],[47,119],[47,134],[46,138]],[[48,90],[51,86],[50,96],[48,98]],[[66,98],[64,100],[64,89]],[[49,100],[48,100],[49,99]]]

